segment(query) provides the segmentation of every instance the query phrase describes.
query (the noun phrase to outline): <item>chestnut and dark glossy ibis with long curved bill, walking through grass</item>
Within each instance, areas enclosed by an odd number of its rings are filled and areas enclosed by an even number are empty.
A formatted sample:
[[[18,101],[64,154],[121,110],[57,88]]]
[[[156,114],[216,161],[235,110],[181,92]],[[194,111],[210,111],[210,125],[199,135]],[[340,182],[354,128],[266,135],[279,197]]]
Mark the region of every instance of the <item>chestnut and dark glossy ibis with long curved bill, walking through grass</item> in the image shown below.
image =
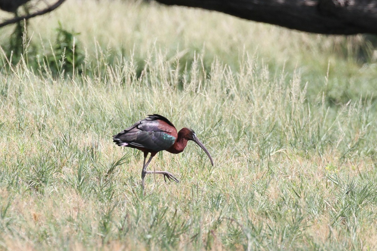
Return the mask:
[[[165,150],[172,154],[179,154],[185,149],[187,141],[189,140],[194,141],[204,150],[213,166],[211,155],[192,129],[184,127],[177,132],[175,126],[166,117],[159,114],[147,116],[148,117],[139,120],[129,128],[113,135],[113,142],[116,145],[136,148],[144,152],[144,164],[141,171],[141,185],[143,189],[144,178],[150,173],[164,175],[165,182],[166,178],[168,178],[170,181],[179,183],[179,180],[172,173],[167,171],[150,171],[147,170],[147,166],[152,158],[160,151]],[[150,157],[146,162],[149,153]]]

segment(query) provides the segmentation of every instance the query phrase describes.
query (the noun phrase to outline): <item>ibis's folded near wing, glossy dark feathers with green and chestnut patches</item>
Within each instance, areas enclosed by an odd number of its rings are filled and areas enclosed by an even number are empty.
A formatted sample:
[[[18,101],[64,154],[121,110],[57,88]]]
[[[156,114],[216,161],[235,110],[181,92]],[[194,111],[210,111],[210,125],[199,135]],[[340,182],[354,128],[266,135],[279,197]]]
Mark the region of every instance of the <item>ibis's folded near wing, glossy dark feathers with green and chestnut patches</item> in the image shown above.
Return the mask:
[[[161,120],[159,117],[153,115],[140,120],[135,125],[113,135],[113,141],[119,146],[144,148],[153,152],[166,150],[175,142],[176,137],[170,135],[175,128],[161,126],[159,120]]]

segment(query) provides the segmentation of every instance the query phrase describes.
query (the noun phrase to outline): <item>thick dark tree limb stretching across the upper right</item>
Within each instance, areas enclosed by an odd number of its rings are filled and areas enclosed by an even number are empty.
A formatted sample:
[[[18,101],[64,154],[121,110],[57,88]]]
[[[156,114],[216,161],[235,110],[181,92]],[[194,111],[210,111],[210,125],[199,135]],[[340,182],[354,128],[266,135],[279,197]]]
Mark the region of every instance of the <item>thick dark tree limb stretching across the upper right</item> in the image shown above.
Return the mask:
[[[322,34],[377,34],[377,0],[156,0]]]

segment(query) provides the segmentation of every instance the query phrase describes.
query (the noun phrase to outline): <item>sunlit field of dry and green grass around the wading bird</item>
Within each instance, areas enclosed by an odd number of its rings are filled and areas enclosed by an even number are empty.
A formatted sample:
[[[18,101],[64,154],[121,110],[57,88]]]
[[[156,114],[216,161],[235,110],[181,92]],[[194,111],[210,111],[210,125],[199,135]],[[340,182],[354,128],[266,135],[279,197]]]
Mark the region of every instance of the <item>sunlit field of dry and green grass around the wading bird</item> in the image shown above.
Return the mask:
[[[80,32],[83,73],[29,67],[58,21]],[[107,0],[28,32],[0,70],[0,250],[377,248],[372,40]],[[194,129],[215,166],[193,143],[159,153],[149,168],[181,183],[150,175],[144,194],[143,154],[112,135],[152,113]]]

